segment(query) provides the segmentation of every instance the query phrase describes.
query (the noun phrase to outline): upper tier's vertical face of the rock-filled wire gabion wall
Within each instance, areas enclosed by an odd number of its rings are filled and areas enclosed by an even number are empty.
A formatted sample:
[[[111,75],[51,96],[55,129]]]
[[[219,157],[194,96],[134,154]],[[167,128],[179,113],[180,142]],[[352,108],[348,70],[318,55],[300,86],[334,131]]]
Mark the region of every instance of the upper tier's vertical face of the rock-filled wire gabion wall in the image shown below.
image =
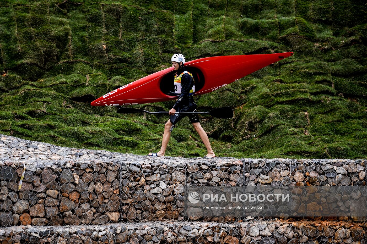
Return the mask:
[[[184,186],[366,184],[364,160],[170,160],[174,161],[0,162],[0,224],[59,226],[165,219],[236,222],[251,220],[257,212],[250,217],[185,217]],[[366,221],[363,217],[327,219]]]

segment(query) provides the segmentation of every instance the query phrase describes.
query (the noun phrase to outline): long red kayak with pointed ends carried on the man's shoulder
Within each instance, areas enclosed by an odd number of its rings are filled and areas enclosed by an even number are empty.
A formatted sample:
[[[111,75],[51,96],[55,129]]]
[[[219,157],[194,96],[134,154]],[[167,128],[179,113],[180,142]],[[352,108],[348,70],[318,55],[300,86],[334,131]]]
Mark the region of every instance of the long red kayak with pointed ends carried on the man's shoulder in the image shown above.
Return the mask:
[[[293,52],[201,58],[185,63],[194,76],[195,96],[213,92],[269,64],[292,56]],[[173,67],[121,86],[92,101],[92,106],[124,106],[177,99]]]

